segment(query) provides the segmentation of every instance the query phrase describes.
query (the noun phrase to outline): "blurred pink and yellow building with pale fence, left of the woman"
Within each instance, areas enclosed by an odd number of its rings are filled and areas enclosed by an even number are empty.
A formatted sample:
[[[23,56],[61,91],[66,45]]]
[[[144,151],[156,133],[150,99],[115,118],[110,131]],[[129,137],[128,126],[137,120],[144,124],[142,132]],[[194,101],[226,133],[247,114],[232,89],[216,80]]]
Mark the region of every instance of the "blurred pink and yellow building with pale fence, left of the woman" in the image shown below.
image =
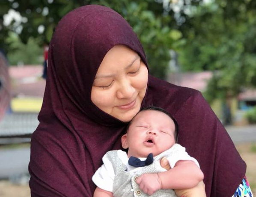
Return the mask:
[[[12,113],[0,121],[0,144],[30,142],[45,92],[42,70],[41,65],[9,67]]]

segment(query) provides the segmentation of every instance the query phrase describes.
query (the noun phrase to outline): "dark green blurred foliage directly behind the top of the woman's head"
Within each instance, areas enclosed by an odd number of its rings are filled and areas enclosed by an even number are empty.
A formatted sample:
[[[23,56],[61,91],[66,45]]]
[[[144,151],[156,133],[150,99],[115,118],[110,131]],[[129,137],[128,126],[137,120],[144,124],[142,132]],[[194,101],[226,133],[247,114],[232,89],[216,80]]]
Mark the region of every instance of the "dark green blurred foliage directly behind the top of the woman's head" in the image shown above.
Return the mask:
[[[198,0],[191,0],[197,3]],[[161,0],[6,0],[0,2],[0,46],[7,51],[9,47],[5,38],[9,31],[18,32],[22,42],[30,37],[38,38],[39,44],[49,43],[58,21],[69,11],[87,4],[109,6],[119,12],[134,28],[142,42],[149,61],[151,74],[165,78],[170,61],[170,49],[176,47],[182,38],[177,30],[175,13],[169,9],[171,1],[163,8]],[[170,4],[170,5],[169,5]],[[185,5],[180,5],[180,14],[184,14]],[[189,4],[191,5],[191,4]],[[183,7],[184,9],[183,9]],[[22,20],[3,25],[3,15],[10,9],[19,12]],[[169,10],[168,10],[169,9]],[[168,14],[169,13],[169,14]]]

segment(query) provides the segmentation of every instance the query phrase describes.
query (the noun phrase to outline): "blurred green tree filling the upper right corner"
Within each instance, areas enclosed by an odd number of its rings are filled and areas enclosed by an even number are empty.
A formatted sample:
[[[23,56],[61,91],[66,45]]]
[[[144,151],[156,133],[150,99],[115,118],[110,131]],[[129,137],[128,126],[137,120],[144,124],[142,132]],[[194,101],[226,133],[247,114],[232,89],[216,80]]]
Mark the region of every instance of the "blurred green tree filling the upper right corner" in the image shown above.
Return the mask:
[[[256,2],[215,0],[191,12],[179,50],[182,70],[212,70],[205,97],[223,100],[256,86]]]

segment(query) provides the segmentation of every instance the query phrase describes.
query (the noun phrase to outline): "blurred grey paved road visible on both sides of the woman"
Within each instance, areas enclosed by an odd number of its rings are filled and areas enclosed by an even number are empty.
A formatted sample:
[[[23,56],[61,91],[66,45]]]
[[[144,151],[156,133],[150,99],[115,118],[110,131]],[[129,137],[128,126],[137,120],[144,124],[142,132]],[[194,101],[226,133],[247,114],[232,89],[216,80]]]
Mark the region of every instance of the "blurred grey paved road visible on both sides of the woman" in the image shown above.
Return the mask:
[[[256,125],[226,127],[235,144],[256,142]],[[0,179],[28,174],[30,148],[0,150]]]

